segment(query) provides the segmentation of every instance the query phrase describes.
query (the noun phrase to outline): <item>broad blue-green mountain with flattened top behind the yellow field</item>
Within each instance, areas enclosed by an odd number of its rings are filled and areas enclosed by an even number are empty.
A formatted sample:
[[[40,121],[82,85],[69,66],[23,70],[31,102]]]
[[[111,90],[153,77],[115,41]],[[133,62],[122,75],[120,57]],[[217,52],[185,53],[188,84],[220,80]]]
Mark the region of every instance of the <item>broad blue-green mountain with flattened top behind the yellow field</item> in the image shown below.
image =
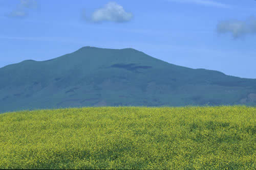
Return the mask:
[[[0,113],[96,106],[256,105],[256,79],[164,62],[133,48],[82,47],[0,68]]]

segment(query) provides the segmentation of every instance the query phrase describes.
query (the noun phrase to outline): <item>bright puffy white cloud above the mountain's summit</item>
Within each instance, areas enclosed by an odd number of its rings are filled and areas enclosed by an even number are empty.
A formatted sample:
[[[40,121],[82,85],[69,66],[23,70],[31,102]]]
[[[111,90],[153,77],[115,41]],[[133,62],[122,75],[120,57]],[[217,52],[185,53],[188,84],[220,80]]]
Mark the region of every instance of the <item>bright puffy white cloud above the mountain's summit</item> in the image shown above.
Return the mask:
[[[87,21],[100,22],[100,21],[114,21],[114,22],[124,22],[129,21],[133,17],[132,13],[125,12],[123,7],[115,2],[109,2],[104,6],[104,8],[97,9],[88,18],[85,13],[83,13],[83,19]]]

